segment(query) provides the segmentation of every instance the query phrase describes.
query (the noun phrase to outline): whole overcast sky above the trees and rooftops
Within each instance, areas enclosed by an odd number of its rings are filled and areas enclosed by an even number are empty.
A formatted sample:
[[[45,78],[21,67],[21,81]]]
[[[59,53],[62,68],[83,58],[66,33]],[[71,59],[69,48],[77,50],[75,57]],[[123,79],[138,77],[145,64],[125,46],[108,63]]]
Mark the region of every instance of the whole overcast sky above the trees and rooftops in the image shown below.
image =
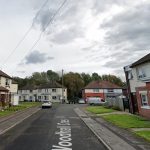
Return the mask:
[[[149,0],[67,0],[52,19],[63,2],[0,0],[3,71],[25,77],[64,69],[122,78],[124,66],[150,52]]]

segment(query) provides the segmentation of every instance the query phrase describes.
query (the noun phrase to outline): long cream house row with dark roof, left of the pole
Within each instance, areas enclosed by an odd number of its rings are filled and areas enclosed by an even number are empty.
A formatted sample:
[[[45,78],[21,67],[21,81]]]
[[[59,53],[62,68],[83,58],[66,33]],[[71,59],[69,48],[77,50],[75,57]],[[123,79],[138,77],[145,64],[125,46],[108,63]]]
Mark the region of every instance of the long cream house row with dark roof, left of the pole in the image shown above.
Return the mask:
[[[67,102],[67,88],[52,81],[40,86],[25,86],[18,90],[20,101]]]

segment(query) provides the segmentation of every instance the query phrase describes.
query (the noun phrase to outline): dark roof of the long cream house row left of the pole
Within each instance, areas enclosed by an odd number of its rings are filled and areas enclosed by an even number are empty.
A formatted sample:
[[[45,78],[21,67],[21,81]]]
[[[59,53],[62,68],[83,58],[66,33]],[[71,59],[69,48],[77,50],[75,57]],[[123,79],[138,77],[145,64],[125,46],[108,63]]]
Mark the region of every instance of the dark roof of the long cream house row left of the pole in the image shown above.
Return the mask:
[[[26,85],[20,88],[19,90],[34,90],[34,89],[47,89],[47,88],[62,88],[62,85],[57,83],[56,81],[50,81],[47,84],[43,84],[39,86]]]

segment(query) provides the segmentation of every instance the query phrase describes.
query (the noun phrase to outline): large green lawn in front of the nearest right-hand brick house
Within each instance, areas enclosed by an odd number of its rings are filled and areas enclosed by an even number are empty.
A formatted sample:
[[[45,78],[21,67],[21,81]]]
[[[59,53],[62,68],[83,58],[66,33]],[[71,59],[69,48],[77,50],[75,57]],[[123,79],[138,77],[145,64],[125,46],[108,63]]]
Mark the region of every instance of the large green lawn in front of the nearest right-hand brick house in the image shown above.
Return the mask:
[[[110,114],[102,116],[105,120],[122,128],[150,128],[150,121],[142,117],[126,114]]]

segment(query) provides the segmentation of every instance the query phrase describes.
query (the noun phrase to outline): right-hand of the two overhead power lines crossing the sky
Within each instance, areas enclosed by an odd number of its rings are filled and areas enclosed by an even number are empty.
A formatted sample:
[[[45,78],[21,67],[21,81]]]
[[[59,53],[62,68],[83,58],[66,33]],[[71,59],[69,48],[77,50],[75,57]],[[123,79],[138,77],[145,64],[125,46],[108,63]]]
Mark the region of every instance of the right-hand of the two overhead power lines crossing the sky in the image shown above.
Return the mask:
[[[44,29],[41,31],[38,39],[34,42],[34,44],[32,45],[32,47],[27,51],[27,53],[25,55],[27,55],[30,51],[32,51],[32,49],[37,45],[37,43],[40,41],[42,34],[45,32],[46,28],[49,26],[50,23],[52,23],[52,21],[54,20],[54,18],[56,17],[56,15],[59,13],[59,11],[62,9],[62,7],[65,5],[65,3],[67,2],[67,0],[64,0],[63,3],[60,5],[60,7],[56,10],[56,12],[53,14],[52,17],[50,17],[50,20],[48,21],[48,23],[45,25]],[[20,61],[20,63],[24,60],[24,56],[23,59]],[[16,67],[17,68],[17,67]],[[15,68],[15,69],[16,69]]]

